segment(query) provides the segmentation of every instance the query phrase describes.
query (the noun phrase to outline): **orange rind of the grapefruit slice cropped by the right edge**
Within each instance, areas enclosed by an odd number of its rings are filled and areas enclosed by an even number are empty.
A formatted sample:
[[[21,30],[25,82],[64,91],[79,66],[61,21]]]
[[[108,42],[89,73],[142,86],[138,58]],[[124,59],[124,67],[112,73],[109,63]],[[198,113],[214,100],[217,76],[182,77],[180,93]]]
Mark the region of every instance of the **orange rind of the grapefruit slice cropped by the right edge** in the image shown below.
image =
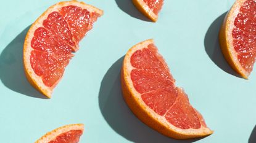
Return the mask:
[[[223,24],[220,28],[219,41],[221,51],[231,68],[233,68],[234,71],[236,71],[244,79],[248,79],[250,73],[242,68],[241,64],[237,59],[237,52],[234,50],[233,47],[232,36],[232,31],[234,29],[234,20],[237,17],[237,14],[239,14],[240,7],[242,7],[242,4],[244,4],[245,1],[246,0],[237,0],[226,14],[226,17],[223,20]]]

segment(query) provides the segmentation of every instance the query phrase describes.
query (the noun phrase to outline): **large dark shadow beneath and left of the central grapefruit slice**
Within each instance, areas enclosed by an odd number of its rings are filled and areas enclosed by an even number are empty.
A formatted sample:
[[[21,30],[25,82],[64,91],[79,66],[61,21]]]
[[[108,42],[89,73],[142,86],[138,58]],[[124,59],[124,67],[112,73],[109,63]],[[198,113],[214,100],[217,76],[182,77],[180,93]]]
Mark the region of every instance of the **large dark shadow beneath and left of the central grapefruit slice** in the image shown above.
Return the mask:
[[[112,64],[102,79],[99,91],[99,107],[101,114],[109,126],[114,129],[115,132],[132,142],[188,143],[197,141],[198,139],[178,141],[165,137],[157,131],[154,131],[154,129],[149,128],[135,117],[122,96],[120,85],[120,69],[122,62],[123,57]]]

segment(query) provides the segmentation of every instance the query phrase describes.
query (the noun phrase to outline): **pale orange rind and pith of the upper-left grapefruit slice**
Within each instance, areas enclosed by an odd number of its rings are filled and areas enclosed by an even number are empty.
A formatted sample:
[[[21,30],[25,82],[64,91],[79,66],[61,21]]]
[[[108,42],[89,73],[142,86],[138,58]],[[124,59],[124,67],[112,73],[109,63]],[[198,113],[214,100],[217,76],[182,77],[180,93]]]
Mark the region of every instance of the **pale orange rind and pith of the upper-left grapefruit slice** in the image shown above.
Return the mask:
[[[52,87],[47,87],[44,85],[43,81],[41,80],[41,77],[35,74],[33,69],[31,68],[30,64],[30,53],[33,50],[31,47],[31,40],[34,36],[34,32],[37,28],[43,26],[43,20],[47,18],[51,12],[58,11],[61,7],[65,6],[77,6],[81,7],[82,9],[87,9],[89,12],[96,12],[100,16],[103,15],[103,11],[100,9],[97,9],[94,6],[85,4],[85,2],[78,2],[78,1],[62,1],[58,2],[57,4],[54,4],[53,6],[49,7],[38,19],[33,23],[33,25],[30,26],[30,29],[28,30],[27,36],[25,37],[25,42],[23,45],[23,64],[24,64],[24,71],[25,75],[28,79],[28,82],[33,85],[38,91],[43,93],[47,98],[51,98],[52,90],[59,82],[59,79]]]

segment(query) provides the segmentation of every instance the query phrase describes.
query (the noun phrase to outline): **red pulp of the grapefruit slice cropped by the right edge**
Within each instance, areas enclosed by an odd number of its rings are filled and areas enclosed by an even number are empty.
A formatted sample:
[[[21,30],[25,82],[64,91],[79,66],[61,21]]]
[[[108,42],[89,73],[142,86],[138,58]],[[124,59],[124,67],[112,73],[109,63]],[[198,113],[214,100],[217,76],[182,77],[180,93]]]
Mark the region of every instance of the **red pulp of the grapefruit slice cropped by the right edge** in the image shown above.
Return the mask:
[[[256,2],[247,0],[234,20],[233,44],[237,58],[247,72],[251,72],[256,57]]]

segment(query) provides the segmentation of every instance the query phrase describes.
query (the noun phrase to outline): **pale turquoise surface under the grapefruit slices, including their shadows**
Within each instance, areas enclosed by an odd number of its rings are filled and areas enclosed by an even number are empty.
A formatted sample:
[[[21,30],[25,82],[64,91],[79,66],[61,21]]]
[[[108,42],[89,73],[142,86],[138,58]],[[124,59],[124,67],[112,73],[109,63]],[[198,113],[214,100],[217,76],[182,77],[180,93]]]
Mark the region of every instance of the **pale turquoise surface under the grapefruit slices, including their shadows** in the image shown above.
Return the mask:
[[[165,1],[157,23],[130,0],[85,0],[104,10],[54,90],[45,99],[27,82],[22,50],[29,26],[57,1],[2,1],[0,6],[0,136],[35,142],[47,131],[85,123],[80,142],[256,142],[255,83],[237,77],[218,45],[218,29],[234,1]],[[123,56],[153,38],[178,86],[215,132],[177,141],[147,127],[128,109],[120,89]]]

